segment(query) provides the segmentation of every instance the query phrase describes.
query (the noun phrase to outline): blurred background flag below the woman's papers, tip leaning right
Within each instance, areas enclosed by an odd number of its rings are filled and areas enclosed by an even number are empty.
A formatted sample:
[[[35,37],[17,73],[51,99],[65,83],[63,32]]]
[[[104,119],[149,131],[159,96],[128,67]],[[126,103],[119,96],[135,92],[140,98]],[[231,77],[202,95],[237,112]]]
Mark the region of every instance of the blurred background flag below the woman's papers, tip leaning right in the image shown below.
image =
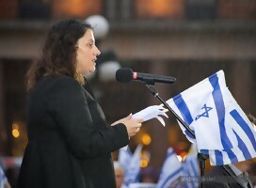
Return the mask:
[[[123,164],[125,168],[124,185],[129,186],[130,183],[138,182],[140,172],[140,152],[142,145],[137,145],[136,150],[129,160],[128,164]],[[126,162],[127,163],[127,162]]]

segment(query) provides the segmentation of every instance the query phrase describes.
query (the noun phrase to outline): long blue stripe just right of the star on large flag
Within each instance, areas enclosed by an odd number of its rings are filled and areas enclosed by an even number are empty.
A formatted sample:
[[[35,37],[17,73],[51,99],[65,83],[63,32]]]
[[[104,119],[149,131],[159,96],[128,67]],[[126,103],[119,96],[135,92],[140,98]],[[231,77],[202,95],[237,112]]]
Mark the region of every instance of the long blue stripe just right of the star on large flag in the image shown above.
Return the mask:
[[[214,101],[216,104],[216,113],[217,113],[217,118],[218,118],[222,146],[224,149],[232,149],[232,143],[231,143],[231,141],[226,133],[226,129],[225,129],[225,105],[223,102],[223,97],[222,97],[222,93],[220,90],[220,86],[218,84],[217,75],[214,74],[213,76],[209,77],[209,81],[214,88],[212,94],[213,94],[213,98],[214,98]]]

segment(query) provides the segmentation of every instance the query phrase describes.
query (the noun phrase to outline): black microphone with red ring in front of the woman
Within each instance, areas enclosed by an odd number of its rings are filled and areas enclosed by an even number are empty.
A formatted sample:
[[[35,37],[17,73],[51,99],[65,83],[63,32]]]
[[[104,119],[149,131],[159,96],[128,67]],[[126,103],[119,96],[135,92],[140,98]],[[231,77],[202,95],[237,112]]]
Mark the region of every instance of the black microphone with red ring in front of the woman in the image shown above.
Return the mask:
[[[166,83],[173,84],[176,78],[171,76],[154,75],[149,73],[141,73],[133,71],[129,68],[120,68],[116,71],[116,79],[120,83],[129,83],[131,81],[140,81],[146,84]]]

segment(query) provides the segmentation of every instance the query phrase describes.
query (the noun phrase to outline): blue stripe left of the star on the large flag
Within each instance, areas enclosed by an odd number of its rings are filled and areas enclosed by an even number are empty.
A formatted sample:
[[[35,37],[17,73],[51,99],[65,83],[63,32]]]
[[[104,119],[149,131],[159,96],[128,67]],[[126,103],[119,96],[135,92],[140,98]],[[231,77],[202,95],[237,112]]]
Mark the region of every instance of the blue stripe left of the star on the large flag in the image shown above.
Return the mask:
[[[176,104],[177,108],[179,109],[180,113],[182,114],[185,124],[190,125],[193,122],[193,118],[190,114],[190,111],[189,111],[186,103],[184,102],[182,95],[179,94],[179,95],[175,96],[173,98],[173,102]],[[191,133],[189,133],[187,130],[185,130],[184,133],[187,136],[189,136],[190,138],[195,139],[195,137]]]

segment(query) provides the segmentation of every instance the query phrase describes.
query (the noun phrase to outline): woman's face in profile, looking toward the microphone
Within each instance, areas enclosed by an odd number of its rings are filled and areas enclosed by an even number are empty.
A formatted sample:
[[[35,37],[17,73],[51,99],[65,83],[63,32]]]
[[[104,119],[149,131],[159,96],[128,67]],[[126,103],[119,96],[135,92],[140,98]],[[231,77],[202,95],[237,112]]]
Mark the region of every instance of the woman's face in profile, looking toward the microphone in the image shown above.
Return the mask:
[[[91,29],[88,29],[85,35],[78,39],[76,51],[77,71],[86,75],[95,71],[97,56],[101,54],[95,46],[95,39]]]

